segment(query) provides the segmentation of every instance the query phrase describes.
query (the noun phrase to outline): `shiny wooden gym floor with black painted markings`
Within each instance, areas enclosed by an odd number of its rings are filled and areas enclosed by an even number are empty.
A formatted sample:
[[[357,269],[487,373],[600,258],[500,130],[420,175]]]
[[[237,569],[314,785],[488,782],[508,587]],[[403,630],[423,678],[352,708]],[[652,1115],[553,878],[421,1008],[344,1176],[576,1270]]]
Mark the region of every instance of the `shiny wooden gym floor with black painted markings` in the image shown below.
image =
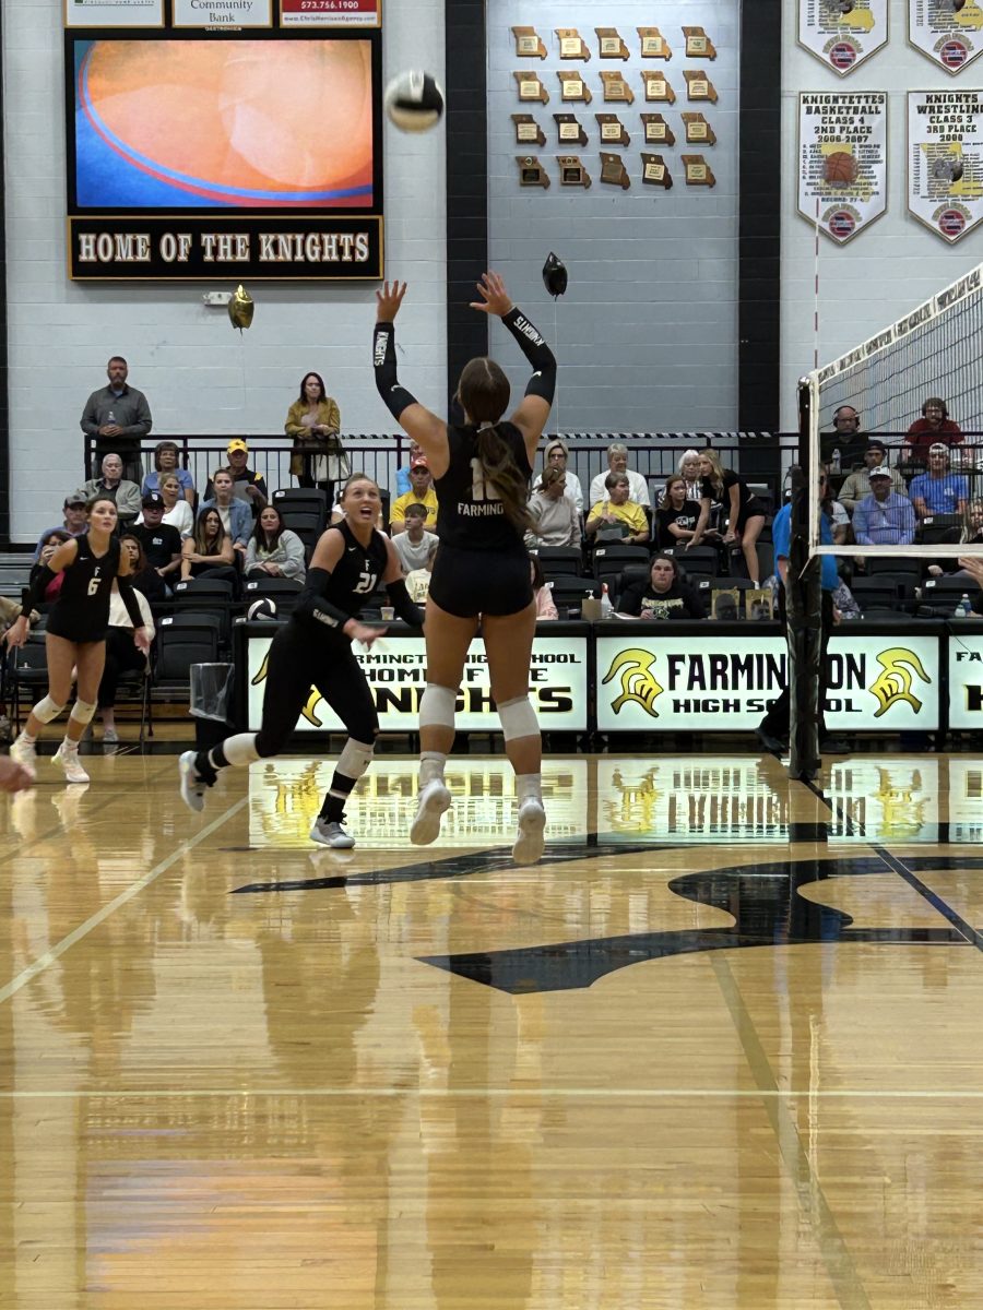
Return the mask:
[[[983,1305],[983,761],[173,756],[0,798],[0,1306]],[[47,770],[51,770],[50,774]],[[509,806],[506,804],[506,808]]]

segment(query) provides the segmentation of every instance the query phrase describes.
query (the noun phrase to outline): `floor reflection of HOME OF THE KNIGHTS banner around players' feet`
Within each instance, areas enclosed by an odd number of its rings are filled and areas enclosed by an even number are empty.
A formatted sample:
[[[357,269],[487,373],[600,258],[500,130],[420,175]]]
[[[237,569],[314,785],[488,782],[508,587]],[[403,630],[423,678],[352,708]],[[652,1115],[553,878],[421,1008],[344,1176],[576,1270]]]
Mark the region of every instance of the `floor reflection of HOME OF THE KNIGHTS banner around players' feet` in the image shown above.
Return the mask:
[[[330,786],[336,760],[263,760],[249,770],[249,845],[260,850],[316,850],[311,825]],[[415,762],[376,756],[355,789],[345,827],[359,850],[409,844],[415,810],[410,782]],[[451,756],[447,786],[453,804],[440,824],[440,849],[511,845],[515,824],[515,770],[505,756]],[[543,803],[549,815],[547,849],[587,842],[591,819],[590,764],[586,757],[543,760]],[[275,876],[275,874],[274,874]]]

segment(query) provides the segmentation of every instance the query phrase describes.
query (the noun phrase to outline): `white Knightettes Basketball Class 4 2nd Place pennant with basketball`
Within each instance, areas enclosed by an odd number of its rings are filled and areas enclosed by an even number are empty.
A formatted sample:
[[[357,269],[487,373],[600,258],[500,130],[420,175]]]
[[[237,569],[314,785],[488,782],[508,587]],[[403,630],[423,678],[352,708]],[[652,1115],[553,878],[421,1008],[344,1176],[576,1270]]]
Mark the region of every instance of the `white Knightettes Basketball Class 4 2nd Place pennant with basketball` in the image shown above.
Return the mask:
[[[887,208],[887,96],[802,92],[798,212],[845,245]]]

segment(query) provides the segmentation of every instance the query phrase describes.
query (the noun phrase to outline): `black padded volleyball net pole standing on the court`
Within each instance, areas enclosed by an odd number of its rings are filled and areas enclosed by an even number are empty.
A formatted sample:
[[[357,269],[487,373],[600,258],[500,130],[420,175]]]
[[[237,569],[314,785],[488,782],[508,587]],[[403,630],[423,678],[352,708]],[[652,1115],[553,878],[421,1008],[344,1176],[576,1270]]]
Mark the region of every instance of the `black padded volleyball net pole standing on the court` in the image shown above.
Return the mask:
[[[785,574],[785,641],[789,688],[789,774],[814,778],[819,772],[819,702],[822,647],[820,562],[811,553],[811,525],[818,523],[818,460],[810,441],[813,389],[798,389],[798,457],[802,486],[792,493],[792,533]]]

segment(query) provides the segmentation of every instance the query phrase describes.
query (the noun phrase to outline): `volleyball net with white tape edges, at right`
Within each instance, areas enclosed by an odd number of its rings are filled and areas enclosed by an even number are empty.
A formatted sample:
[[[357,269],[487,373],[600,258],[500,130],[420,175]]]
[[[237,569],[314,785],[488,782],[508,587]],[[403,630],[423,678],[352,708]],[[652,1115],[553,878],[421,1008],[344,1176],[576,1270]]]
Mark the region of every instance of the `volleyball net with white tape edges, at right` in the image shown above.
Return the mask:
[[[851,515],[839,533],[845,527],[847,540],[822,545],[810,487],[813,553],[927,562],[983,553],[983,265],[802,386],[810,462],[830,464],[834,496],[847,495]],[[886,448],[887,486],[869,479],[870,441]]]

